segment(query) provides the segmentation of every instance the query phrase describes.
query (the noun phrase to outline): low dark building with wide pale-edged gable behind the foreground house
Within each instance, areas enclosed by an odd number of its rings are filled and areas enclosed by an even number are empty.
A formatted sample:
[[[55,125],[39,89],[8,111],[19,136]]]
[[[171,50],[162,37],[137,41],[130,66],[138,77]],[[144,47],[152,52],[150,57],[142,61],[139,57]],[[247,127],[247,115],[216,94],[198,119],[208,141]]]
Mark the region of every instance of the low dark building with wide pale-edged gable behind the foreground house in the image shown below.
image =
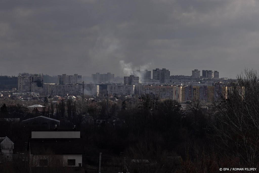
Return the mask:
[[[37,117],[34,117],[34,118],[23,120],[23,121],[21,121],[21,123],[30,124],[30,125],[43,125],[43,126],[45,125],[48,128],[54,127],[55,124],[57,124],[57,126],[60,125],[59,120],[55,120],[53,118],[49,118],[49,117],[46,117],[46,116],[37,116]]]

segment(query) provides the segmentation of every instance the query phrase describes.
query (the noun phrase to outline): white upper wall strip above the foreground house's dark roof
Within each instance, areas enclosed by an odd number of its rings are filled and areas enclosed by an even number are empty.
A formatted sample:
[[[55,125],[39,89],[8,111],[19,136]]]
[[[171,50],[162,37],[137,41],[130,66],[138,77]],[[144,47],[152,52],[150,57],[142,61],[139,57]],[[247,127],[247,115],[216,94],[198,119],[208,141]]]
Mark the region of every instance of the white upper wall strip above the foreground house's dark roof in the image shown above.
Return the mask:
[[[32,138],[80,138],[80,131],[70,132],[34,132],[32,131]]]

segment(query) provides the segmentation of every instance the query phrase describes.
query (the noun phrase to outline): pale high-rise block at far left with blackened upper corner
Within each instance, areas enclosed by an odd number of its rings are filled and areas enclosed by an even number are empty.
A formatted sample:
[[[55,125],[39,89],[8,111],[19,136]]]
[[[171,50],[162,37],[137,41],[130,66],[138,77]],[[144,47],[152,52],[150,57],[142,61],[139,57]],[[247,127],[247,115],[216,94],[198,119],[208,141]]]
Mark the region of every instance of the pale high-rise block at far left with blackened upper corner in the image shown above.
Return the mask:
[[[43,92],[43,76],[38,74],[21,74],[18,76],[18,92]]]

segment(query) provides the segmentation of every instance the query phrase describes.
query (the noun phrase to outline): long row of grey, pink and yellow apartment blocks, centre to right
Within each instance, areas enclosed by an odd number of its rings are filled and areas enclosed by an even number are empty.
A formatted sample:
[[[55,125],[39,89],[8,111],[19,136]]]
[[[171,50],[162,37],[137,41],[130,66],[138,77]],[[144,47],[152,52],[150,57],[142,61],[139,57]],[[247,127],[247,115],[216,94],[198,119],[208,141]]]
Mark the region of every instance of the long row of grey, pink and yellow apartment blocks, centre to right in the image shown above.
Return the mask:
[[[192,99],[212,101],[218,95],[225,95],[226,88],[216,86],[163,86],[163,85],[108,85],[108,94],[112,95],[142,95],[153,94],[160,99],[173,99],[184,102]]]

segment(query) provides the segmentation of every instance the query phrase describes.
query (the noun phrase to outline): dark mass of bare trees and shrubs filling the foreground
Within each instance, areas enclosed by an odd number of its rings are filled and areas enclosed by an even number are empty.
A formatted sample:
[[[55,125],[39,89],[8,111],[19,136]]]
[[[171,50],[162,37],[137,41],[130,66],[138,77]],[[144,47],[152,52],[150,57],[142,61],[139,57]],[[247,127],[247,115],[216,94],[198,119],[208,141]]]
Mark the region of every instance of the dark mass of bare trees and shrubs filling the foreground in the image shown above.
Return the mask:
[[[58,113],[49,112],[48,116],[61,120],[60,128],[72,128],[74,124],[80,128],[85,172],[98,172],[100,152],[101,172],[218,172],[219,168],[258,168],[258,82],[256,71],[245,70],[238,76],[238,83],[228,87],[226,94],[221,92],[214,102],[192,100],[185,109],[174,100],[146,95],[109,102],[108,111],[105,100],[62,101]],[[24,119],[33,116],[25,107],[14,105],[2,106],[1,116],[17,114]],[[208,110],[202,106],[208,106]],[[98,117],[107,113],[123,123],[97,123]],[[32,128],[40,127],[1,120],[0,136],[8,136],[17,153],[22,153]],[[23,166],[18,161],[2,165],[7,172],[25,172]]]

